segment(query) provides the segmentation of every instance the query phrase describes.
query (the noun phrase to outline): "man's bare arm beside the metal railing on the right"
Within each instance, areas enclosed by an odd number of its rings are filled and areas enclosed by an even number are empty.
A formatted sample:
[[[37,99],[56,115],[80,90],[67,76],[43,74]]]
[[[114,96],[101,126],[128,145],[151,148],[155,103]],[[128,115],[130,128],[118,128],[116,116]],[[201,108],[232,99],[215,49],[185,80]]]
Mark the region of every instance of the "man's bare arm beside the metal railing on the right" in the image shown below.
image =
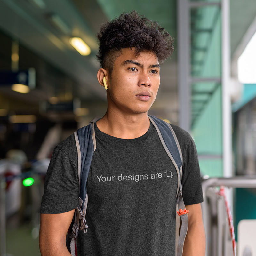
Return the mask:
[[[185,239],[184,256],[205,255],[205,233],[200,204],[186,205],[188,213],[188,233]]]

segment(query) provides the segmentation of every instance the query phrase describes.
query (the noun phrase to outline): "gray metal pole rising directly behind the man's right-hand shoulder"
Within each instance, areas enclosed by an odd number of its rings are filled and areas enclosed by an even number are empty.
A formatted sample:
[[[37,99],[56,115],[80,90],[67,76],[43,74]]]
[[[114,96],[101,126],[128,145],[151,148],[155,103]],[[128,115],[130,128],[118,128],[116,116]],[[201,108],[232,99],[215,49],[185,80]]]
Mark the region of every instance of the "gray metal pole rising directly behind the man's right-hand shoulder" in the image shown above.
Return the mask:
[[[190,131],[190,8],[188,0],[177,1],[178,6],[178,93],[179,125]]]

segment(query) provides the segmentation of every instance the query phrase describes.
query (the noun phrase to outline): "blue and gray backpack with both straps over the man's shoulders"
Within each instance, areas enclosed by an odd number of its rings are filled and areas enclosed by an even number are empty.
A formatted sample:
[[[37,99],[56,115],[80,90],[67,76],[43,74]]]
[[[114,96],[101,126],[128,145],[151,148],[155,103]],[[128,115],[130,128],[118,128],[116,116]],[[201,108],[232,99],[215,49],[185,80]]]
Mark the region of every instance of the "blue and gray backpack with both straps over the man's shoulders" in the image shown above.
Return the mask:
[[[188,212],[185,209],[185,205],[182,198],[182,186],[181,186],[181,175],[182,175],[182,153],[180,149],[177,137],[172,129],[172,126],[165,121],[156,118],[155,116],[148,116],[151,123],[156,128],[158,136],[162,142],[162,145],[172,160],[177,174],[178,174],[178,187],[177,187],[177,205],[179,211],[177,211],[178,216],[181,219],[180,234],[178,239],[178,249],[177,256],[182,256],[183,245],[185,237],[188,231]],[[73,221],[70,225],[70,232],[67,235],[67,247],[72,256],[77,255],[76,243],[78,236],[78,230],[83,230],[84,233],[87,232],[87,224],[85,220],[86,208],[88,203],[88,196],[86,190],[86,182],[88,174],[90,171],[90,166],[92,162],[92,155],[96,149],[96,139],[94,123],[100,118],[94,118],[90,124],[78,129],[75,135],[77,157],[78,157],[78,178],[79,178],[79,206],[75,209]]]

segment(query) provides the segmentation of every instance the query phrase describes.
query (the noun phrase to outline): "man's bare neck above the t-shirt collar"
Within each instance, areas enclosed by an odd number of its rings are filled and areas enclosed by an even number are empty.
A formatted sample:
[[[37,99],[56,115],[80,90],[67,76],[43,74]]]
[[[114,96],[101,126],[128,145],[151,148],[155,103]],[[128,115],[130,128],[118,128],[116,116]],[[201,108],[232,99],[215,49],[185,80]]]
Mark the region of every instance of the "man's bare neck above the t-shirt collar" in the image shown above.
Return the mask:
[[[101,132],[121,139],[135,139],[148,131],[148,113],[120,113],[108,111],[97,122]]]

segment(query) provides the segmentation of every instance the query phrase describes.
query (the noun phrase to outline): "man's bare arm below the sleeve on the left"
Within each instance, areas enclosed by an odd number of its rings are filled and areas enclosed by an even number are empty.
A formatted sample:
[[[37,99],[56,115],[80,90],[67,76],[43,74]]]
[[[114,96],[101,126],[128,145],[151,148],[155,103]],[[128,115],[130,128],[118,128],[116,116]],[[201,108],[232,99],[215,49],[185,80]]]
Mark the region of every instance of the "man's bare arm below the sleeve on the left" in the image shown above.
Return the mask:
[[[75,209],[59,214],[41,214],[39,248],[42,256],[70,256],[66,234]]]

